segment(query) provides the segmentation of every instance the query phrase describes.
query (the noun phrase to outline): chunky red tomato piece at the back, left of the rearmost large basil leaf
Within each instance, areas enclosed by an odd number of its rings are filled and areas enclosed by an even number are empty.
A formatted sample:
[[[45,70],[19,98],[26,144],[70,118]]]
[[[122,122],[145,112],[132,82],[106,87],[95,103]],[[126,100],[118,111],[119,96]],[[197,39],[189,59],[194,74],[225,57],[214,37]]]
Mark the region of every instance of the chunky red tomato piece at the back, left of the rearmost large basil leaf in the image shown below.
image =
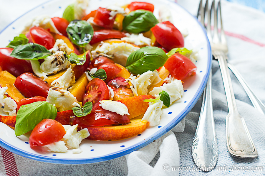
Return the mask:
[[[98,8],[95,13],[94,23],[98,26],[112,29],[115,21],[115,16],[110,19],[110,10],[105,8]]]

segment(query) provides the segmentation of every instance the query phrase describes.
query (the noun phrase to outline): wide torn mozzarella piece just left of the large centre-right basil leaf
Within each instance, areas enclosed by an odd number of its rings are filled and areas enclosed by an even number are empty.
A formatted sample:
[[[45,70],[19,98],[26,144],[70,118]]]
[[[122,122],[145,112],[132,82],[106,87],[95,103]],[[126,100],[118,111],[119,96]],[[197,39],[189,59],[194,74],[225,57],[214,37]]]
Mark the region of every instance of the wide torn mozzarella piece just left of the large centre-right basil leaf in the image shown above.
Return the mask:
[[[125,42],[112,44],[101,42],[91,53],[93,58],[103,55],[112,58],[115,63],[125,66],[129,55],[139,49],[139,47]]]

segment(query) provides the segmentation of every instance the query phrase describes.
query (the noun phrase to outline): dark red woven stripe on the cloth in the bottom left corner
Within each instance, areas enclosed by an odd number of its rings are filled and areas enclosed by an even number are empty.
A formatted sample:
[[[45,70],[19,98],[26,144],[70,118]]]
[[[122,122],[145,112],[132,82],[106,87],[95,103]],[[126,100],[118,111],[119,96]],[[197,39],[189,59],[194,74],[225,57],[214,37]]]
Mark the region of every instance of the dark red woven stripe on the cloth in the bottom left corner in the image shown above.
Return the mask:
[[[19,176],[14,154],[2,147],[0,147],[0,151],[5,165],[6,175]]]

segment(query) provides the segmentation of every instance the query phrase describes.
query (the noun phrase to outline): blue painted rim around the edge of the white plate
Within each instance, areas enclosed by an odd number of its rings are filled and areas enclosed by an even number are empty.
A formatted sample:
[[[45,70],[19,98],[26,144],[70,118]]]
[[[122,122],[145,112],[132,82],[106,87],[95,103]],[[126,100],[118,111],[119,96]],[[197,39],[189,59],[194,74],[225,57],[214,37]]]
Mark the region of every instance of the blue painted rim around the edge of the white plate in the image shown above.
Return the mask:
[[[39,6],[42,6],[50,1],[53,0],[49,0],[46,1],[43,4],[40,4]],[[170,0],[168,0],[170,1]],[[170,3],[174,3],[172,1],[170,1]],[[175,3],[174,3],[175,4]],[[177,6],[180,6],[179,4],[176,4]],[[0,34],[8,27],[10,26],[12,23],[14,23],[16,20],[18,20],[19,18],[21,18],[22,16],[24,16],[25,14],[29,13],[30,11],[36,9],[37,7],[34,7],[33,9],[27,11],[26,13],[24,13],[23,15],[21,15],[20,17],[16,18],[13,22],[11,22],[9,25],[7,25],[1,32]],[[191,13],[189,13],[185,8],[183,8],[182,6],[180,6],[182,9],[184,9],[188,14],[190,14],[191,16],[193,16]],[[208,48],[208,64],[207,64],[207,73],[206,75],[203,77],[203,80],[196,92],[196,94],[194,95],[194,97],[191,99],[190,103],[187,104],[187,106],[185,107],[185,109],[183,111],[180,112],[180,114],[178,114],[178,116],[176,116],[170,123],[168,123],[166,126],[164,126],[161,130],[163,131],[157,131],[156,133],[153,134],[153,137],[147,138],[145,141],[136,143],[135,145],[130,146],[129,148],[126,148],[124,150],[120,150],[118,152],[115,153],[110,153],[108,155],[105,156],[101,156],[101,157],[95,157],[95,158],[84,158],[84,159],[63,159],[63,158],[52,158],[52,157],[45,157],[42,155],[36,155],[36,154],[32,154],[29,152],[26,152],[24,150],[20,150],[19,148],[16,148],[13,145],[9,145],[8,143],[6,143],[5,141],[3,141],[0,138],[0,146],[5,148],[6,150],[9,150],[15,154],[24,156],[26,158],[30,158],[33,160],[37,160],[37,161],[42,161],[42,162],[47,162],[47,163],[57,163],[57,164],[89,164],[89,163],[97,163],[97,162],[102,162],[102,161],[107,161],[107,160],[112,160],[115,158],[119,158],[122,157],[124,155],[127,155],[135,150],[139,150],[140,148],[145,147],[146,145],[152,143],[154,140],[160,138],[161,136],[163,136],[165,133],[167,133],[168,131],[170,131],[172,128],[174,128],[187,114],[189,111],[191,111],[191,109],[193,108],[193,106],[197,103],[198,99],[200,98],[206,83],[208,81],[209,78],[209,74],[211,71],[211,65],[212,65],[212,51],[211,51],[211,46],[210,46],[210,42],[208,40],[207,37],[207,33],[205,28],[202,26],[202,24],[197,20],[197,18],[195,16],[193,16],[193,18],[196,19],[196,22],[198,22],[198,24],[201,26],[204,35],[206,37],[207,40],[207,48]]]

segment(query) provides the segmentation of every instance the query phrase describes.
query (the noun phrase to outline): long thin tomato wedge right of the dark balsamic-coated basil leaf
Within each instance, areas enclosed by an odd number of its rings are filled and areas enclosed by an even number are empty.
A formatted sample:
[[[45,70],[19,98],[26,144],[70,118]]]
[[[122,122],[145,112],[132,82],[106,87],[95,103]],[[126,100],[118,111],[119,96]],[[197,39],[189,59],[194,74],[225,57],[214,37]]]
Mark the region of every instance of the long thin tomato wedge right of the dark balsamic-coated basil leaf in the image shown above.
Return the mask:
[[[125,33],[116,31],[116,30],[109,30],[109,29],[101,29],[94,32],[93,38],[90,41],[90,44],[98,43],[102,40],[107,39],[121,39],[122,37],[126,37]]]

